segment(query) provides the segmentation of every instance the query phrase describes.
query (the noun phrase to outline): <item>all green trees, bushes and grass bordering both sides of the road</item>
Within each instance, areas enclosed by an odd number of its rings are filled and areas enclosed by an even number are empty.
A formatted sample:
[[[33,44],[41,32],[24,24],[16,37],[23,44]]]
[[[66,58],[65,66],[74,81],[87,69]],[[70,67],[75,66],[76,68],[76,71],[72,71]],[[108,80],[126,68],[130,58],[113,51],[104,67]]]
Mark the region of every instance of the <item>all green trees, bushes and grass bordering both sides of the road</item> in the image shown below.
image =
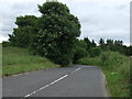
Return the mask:
[[[41,16],[20,15],[16,29],[3,46],[3,76],[72,64],[100,66],[112,97],[130,96],[130,56],[132,46],[120,40],[80,36],[80,23],[66,4],[45,2]],[[54,64],[53,64],[54,63]],[[58,65],[56,65],[58,64]]]

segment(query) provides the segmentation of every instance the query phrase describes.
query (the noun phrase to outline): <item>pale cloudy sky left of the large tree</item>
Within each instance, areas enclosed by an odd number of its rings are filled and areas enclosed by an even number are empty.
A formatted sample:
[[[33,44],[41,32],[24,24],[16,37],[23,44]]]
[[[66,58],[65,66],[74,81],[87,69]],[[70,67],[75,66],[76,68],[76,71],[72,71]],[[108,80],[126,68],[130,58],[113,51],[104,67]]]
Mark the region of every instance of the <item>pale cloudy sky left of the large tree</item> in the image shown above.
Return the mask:
[[[2,3],[1,3],[2,4]],[[4,9],[4,10],[3,10]],[[16,28],[15,25],[15,18],[19,15],[25,14],[34,14],[40,15],[37,11],[37,4],[35,2],[16,2],[16,3],[9,3],[7,2],[6,6],[0,7],[0,14],[2,18],[2,28],[0,30],[0,36],[8,37],[8,34],[13,32],[13,29]]]

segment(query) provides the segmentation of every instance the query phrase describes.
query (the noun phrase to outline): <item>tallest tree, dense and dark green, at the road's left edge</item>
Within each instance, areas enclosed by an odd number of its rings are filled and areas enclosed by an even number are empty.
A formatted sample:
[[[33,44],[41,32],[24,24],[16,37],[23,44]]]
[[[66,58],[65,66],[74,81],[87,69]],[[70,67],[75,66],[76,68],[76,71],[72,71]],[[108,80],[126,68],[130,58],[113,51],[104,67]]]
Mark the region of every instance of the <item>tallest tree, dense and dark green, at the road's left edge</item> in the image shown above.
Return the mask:
[[[42,15],[37,20],[34,52],[62,66],[69,65],[76,37],[80,35],[78,19],[61,2],[45,2],[38,10]]]

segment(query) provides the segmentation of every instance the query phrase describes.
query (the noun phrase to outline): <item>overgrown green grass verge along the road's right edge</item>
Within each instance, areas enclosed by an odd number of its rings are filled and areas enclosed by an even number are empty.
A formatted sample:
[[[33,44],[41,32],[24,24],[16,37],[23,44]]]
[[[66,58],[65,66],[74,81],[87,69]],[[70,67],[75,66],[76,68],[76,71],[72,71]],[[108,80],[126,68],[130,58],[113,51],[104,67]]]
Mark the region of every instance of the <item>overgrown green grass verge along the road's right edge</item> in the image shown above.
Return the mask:
[[[112,97],[130,97],[130,58],[117,52],[103,52],[100,56],[85,57],[78,64],[100,66],[106,75]]]

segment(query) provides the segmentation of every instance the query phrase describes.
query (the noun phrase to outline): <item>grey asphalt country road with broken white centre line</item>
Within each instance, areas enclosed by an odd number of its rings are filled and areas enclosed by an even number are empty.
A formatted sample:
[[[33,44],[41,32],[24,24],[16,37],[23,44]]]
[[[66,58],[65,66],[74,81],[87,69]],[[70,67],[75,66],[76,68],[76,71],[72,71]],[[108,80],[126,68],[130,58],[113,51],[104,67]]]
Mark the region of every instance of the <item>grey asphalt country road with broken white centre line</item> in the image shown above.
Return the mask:
[[[3,97],[108,97],[99,67],[75,65],[3,78]]]

